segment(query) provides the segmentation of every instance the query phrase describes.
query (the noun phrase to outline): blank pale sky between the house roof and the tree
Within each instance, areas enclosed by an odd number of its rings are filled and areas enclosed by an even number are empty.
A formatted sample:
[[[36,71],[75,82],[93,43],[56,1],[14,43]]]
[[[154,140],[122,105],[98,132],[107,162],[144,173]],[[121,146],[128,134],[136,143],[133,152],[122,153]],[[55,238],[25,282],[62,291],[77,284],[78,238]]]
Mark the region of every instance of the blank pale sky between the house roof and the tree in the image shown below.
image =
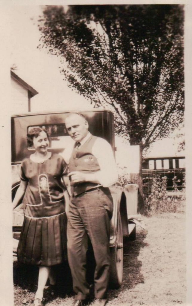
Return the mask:
[[[37,49],[40,31],[37,26],[42,6],[13,6],[11,9],[11,65],[24,81],[39,92],[31,99],[31,111],[63,110],[79,106],[90,108],[86,99],[68,88],[59,72],[60,61]]]

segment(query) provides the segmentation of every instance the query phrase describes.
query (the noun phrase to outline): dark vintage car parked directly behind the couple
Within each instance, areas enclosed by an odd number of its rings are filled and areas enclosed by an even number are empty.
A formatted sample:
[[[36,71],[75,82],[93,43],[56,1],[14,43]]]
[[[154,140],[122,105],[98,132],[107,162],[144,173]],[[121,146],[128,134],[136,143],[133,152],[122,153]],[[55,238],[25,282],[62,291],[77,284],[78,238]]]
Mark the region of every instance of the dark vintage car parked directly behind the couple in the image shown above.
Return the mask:
[[[27,147],[26,134],[33,127],[42,127],[49,132],[51,152],[67,156],[72,150],[73,140],[68,136],[65,118],[69,111],[43,114],[17,115],[11,118],[12,145],[12,199],[20,185],[19,169],[22,159],[29,157],[34,149]],[[81,112],[89,123],[89,130],[95,136],[107,140],[114,151],[114,119],[113,113],[107,110],[87,110]],[[113,196],[114,210],[110,227],[111,271],[110,286],[121,285],[123,276],[123,236],[131,240],[136,238],[136,226],[127,212],[137,214],[138,185],[129,184],[124,187],[120,183],[110,186]],[[22,202],[22,201],[21,201]],[[132,209],[130,208],[132,207]],[[133,208],[134,207],[134,208]],[[20,203],[13,210],[13,252],[17,253],[18,239],[23,223],[23,205]]]

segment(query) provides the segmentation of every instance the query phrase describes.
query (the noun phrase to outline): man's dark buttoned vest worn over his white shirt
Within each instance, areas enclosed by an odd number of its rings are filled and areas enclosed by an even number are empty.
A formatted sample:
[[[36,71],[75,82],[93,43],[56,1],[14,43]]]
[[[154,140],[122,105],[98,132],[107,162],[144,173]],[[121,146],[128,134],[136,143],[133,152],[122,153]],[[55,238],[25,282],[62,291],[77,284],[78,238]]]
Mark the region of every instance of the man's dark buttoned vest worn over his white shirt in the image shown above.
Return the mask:
[[[92,154],[92,147],[97,138],[98,137],[91,135],[80,148],[73,148],[72,155],[69,159],[69,172],[80,171],[83,173],[93,173],[100,170],[98,161]],[[97,186],[100,185],[91,182],[77,184],[72,184],[71,182],[71,192],[72,195],[77,196]]]

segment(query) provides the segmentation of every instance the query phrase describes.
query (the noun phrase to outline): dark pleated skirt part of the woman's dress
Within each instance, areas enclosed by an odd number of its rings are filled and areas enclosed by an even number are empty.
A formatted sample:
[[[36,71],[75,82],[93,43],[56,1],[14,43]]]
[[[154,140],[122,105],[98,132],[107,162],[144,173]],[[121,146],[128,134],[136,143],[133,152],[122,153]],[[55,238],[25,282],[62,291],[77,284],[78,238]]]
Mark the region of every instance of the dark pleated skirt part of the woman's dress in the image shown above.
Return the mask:
[[[17,248],[19,262],[53,266],[67,259],[66,213],[49,218],[25,216]]]

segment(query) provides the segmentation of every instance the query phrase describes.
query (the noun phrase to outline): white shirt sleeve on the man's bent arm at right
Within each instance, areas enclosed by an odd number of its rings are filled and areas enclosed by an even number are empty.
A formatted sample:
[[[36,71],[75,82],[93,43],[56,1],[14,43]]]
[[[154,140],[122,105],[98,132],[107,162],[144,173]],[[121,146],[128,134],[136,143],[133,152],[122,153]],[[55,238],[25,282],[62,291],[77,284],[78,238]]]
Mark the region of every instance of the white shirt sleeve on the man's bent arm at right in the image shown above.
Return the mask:
[[[98,138],[92,148],[93,155],[100,166],[97,179],[103,187],[109,187],[118,181],[118,171],[111,145],[103,138]]]

